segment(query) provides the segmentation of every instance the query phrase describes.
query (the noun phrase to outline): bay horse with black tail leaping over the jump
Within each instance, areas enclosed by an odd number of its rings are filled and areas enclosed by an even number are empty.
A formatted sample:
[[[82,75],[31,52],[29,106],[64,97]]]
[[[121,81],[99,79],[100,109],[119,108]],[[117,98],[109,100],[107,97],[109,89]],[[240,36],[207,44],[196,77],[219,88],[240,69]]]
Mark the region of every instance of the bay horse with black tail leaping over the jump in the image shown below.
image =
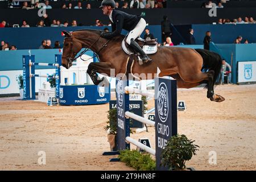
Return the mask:
[[[123,35],[114,37],[111,40],[101,38],[102,30],[77,30],[73,32],[63,31],[65,36],[61,64],[65,68],[72,66],[72,62],[79,56],[77,53],[82,48],[91,49],[98,55],[99,63],[90,63],[87,73],[95,85],[100,84],[104,78],[99,78],[97,73],[115,77],[119,73],[126,73],[127,55],[122,47]],[[193,88],[205,83],[207,98],[211,101],[222,102],[224,97],[214,94],[214,85],[217,85],[217,78],[220,76],[222,59],[220,55],[204,49],[192,49],[181,47],[158,47],[158,51],[150,55],[150,63],[140,65],[134,61],[131,72],[136,75],[146,74],[147,79],[150,73],[154,78],[157,69],[160,69],[159,76],[171,76],[177,80],[178,88]],[[110,75],[114,69],[114,75]]]

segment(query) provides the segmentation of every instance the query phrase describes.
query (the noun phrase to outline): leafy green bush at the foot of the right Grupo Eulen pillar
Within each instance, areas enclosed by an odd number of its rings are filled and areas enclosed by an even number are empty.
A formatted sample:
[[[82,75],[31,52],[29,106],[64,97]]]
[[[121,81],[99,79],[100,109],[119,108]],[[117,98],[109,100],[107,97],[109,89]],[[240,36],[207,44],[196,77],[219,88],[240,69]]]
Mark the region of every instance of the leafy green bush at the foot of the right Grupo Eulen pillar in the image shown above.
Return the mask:
[[[199,147],[193,142],[195,140],[189,140],[185,135],[172,136],[162,151],[161,165],[167,166],[170,170],[185,170],[185,162],[196,155]]]

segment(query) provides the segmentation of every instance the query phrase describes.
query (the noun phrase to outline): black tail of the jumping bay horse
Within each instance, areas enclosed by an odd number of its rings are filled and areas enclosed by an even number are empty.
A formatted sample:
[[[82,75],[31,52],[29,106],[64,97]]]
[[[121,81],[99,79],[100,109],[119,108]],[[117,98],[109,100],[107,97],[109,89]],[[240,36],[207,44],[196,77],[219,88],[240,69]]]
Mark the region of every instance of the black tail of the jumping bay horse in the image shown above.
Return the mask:
[[[222,68],[222,59],[221,56],[215,52],[211,52],[205,49],[195,49],[203,57],[203,67],[201,69],[202,72],[207,72],[210,70],[214,71],[213,83],[214,85],[218,85],[217,79],[221,74]],[[208,82],[203,81],[201,84],[206,83],[205,88],[208,88]]]

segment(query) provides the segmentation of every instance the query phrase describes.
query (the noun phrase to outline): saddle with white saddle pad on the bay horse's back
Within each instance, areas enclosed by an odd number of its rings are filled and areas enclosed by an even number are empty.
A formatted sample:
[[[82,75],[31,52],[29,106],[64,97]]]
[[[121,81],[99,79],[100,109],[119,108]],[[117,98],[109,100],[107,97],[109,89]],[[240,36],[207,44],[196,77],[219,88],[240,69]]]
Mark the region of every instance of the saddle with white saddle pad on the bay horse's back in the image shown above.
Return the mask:
[[[129,44],[126,43],[126,39],[127,39],[127,35],[125,36],[125,39],[123,39],[122,41],[122,48],[123,48],[123,51],[127,53],[127,55],[131,55],[135,51],[133,50],[133,48],[129,46]],[[141,46],[141,48],[147,55],[152,55],[156,53],[156,51],[158,51],[157,40],[158,39],[144,40],[138,37],[137,39],[135,39],[135,42],[137,42],[139,46]]]

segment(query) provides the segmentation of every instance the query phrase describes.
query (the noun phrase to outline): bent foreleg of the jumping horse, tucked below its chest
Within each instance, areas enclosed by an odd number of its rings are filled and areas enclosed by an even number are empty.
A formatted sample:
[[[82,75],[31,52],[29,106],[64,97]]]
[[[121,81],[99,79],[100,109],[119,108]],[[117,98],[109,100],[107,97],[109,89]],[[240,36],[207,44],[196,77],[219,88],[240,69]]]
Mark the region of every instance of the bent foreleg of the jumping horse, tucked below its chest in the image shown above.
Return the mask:
[[[110,65],[110,63],[90,63],[88,65],[87,73],[94,85],[98,85],[100,82],[104,81],[104,77],[100,78],[97,73],[110,76]]]

